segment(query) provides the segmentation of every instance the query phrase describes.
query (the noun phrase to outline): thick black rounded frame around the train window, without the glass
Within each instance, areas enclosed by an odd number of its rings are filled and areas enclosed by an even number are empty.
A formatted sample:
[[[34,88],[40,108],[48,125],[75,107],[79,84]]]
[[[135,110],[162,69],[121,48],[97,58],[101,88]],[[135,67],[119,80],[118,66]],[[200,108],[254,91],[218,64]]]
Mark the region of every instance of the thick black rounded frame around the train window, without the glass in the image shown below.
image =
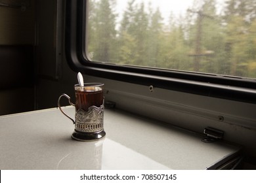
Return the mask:
[[[86,75],[256,104],[256,79],[89,61],[84,29],[86,1],[66,1],[65,52],[71,69]]]

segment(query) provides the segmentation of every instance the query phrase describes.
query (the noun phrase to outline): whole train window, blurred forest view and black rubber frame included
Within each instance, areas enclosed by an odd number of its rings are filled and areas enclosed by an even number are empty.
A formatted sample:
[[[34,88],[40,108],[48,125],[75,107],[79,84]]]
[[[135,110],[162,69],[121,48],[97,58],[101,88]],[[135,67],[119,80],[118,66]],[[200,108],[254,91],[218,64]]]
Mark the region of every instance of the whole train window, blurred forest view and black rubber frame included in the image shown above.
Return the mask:
[[[67,3],[75,71],[256,103],[254,0]]]

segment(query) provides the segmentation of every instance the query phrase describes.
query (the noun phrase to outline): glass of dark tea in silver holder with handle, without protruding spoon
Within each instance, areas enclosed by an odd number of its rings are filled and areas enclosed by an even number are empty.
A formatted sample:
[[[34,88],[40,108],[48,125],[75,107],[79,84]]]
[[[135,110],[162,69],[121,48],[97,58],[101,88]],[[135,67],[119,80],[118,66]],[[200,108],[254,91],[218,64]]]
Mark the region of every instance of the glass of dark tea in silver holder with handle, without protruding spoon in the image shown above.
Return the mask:
[[[103,127],[104,95],[102,83],[75,84],[75,104],[63,93],[58,98],[58,108],[75,124],[72,139],[77,141],[95,141],[106,135]],[[70,105],[75,107],[75,120],[70,118],[61,108],[60,99],[68,98]]]

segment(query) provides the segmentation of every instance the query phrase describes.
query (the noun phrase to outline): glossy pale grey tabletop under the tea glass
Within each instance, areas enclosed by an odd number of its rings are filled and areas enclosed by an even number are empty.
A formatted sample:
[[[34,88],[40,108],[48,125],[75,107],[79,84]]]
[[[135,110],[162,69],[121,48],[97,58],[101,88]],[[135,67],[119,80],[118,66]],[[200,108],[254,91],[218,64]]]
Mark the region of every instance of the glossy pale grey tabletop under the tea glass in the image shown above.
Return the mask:
[[[240,150],[117,109],[104,110],[104,130],[99,141],[72,140],[57,108],[0,116],[0,169],[207,169]]]

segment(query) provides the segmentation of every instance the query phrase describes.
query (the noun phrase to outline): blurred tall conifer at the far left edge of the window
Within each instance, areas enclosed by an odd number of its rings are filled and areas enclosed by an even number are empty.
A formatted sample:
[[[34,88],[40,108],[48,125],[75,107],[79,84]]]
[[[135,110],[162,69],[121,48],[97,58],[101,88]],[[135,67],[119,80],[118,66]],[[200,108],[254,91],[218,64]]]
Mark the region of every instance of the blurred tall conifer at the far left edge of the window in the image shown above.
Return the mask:
[[[92,21],[89,23],[89,52],[93,60],[111,61],[116,58],[116,14],[114,0],[93,1],[89,12]],[[94,11],[94,12],[93,12]]]

